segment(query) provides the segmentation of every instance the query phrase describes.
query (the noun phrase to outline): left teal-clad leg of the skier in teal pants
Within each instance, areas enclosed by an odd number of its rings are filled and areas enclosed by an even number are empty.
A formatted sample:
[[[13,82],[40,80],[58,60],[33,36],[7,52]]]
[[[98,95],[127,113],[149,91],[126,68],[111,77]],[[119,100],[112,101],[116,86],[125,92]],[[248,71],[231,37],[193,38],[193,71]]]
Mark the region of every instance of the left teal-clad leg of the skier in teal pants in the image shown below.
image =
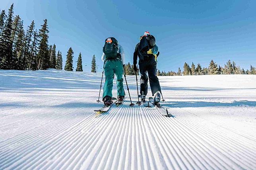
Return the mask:
[[[105,84],[103,88],[103,99],[105,96],[112,97],[113,79],[114,79],[114,69],[112,62],[107,60],[104,67],[105,72]]]

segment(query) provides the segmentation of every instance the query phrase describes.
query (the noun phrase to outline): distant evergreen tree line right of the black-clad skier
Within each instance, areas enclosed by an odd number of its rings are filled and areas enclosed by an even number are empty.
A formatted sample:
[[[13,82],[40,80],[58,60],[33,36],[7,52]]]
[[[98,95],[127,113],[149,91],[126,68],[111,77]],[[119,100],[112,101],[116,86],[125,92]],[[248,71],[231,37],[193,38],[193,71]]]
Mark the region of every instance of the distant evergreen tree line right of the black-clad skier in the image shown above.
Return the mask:
[[[236,65],[235,61],[231,63],[231,60],[227,61],[224,67],[218,66],[213,60],[210,61],[208,67],[202,67],[200,63],[197,67],[192,62],[191,67],[185,62],[183,66],[183,72],[178,68],[178,72],[174,71],[157,71],[157,76],[181,76],[181,75],[214,75],[214,74],[256,74],[256,68],[250,65],[250,70],[241,69]]]

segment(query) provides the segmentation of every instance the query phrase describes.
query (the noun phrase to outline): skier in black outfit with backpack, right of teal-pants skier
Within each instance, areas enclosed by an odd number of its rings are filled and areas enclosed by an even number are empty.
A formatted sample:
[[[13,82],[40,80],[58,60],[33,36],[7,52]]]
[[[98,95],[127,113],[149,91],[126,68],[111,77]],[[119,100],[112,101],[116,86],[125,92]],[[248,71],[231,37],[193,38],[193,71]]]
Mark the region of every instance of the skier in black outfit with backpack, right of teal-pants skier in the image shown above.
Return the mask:
[[[150,35],[149,32],[145,32],[144,36],[140,37],[140,42],[136,44],[133,55],[133,65],[135,72],[138,71],[136,64],[137,58],[139,57],[139,69],[141,74],[140,94],[142,101],[145,101],[145,97],[147,95],[148,79],[152,96],[154,96],[154,102],[159,103],[161,100],[161,87],[156,76],[158,55],[159,52],[158,47],[155,44],[155,37]]]

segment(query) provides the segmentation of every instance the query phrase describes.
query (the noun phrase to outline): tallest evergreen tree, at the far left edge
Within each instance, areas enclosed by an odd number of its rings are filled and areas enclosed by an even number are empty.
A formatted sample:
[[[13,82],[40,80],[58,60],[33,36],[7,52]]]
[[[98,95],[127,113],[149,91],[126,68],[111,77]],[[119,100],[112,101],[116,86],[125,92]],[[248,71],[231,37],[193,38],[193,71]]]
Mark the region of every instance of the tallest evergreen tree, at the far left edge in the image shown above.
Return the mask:
[[[10,69],[12,62],[12,18],[14,4],[11,5],[8,11],[8,16],[2,36],[0,39],[0,69]]]

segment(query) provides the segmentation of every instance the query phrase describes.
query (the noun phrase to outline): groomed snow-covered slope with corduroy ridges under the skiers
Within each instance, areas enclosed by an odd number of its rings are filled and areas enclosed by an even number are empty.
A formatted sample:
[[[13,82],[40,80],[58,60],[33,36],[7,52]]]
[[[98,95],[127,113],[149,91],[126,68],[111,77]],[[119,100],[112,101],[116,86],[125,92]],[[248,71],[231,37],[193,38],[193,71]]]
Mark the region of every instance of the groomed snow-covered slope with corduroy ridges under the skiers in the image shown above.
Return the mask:
[[[128,97],[96,117],[101,73],[0,70],[0,169],[256,169],[255,75],[159,79],[175,118]]]

